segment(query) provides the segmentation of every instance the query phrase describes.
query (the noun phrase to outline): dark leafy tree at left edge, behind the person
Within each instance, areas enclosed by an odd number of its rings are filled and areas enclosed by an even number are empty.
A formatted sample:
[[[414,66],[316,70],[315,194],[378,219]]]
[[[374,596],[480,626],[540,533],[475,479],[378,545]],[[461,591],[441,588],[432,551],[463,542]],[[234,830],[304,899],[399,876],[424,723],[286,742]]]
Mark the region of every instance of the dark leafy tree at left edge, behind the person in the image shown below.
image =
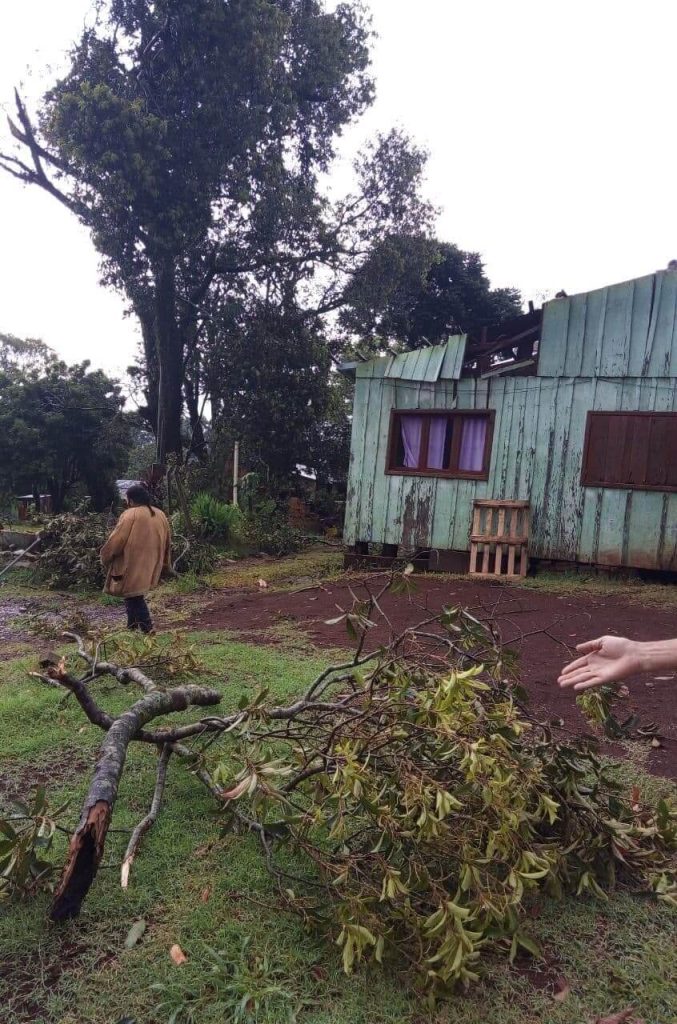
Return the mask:
[[[94,509],[105,508],[132,443],[124,401],[118,382],[88,362],[0,371],[0,489],[50,494],[58,512],[82,483]]]

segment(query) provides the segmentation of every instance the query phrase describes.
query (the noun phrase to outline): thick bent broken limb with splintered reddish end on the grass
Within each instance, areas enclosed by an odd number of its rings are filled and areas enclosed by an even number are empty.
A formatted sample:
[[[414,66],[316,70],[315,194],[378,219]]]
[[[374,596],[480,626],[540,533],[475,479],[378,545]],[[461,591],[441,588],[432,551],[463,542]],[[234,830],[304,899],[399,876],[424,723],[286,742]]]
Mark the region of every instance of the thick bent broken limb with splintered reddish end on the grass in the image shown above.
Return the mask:
[[[156,690],[146,693],[113,721],[98,754],[80,823],[71,839],[66,864],[49,911],[52,921],[77,916],[94,881],[103,856],[105,836],[131,740],[154,718],[185,711],[195,705],[210,707],[217,705],[220,699],[220,693],[199,686],[179,686],[166,692]]]

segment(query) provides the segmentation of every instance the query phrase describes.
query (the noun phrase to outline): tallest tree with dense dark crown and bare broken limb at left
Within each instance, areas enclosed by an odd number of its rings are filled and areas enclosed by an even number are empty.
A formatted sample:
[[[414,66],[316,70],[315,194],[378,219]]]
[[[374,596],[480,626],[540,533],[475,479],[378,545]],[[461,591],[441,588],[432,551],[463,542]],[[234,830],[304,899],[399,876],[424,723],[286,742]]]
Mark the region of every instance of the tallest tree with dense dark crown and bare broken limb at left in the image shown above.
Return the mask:
[[[181,449],[186,368],[210,292],[306,288],[320,311],[394,223],[425,222],[422,155],[393,133],[359,188],[321,181],[373,98],[358,0],[100,0],[32,119],[18,93],[0,168],[86,224],[141,327],[158,455]],[[320,272],[318,272],[320,271]],[[321,285],[310,300],[311,279]],[[195,374],[194,374],[195,377]]]

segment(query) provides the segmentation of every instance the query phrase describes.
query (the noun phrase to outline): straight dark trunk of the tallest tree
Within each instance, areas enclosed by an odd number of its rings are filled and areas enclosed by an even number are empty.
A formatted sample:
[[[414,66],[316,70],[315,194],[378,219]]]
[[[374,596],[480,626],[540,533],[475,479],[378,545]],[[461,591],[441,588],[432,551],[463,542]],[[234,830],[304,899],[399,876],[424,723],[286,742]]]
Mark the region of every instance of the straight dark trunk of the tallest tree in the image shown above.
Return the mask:
[[[156,269],[156,351],[158,354],[157,461],[164,465],[170,454],[181,455],[183,396],[183,342],[176,324],[174,262],[163,259]]]

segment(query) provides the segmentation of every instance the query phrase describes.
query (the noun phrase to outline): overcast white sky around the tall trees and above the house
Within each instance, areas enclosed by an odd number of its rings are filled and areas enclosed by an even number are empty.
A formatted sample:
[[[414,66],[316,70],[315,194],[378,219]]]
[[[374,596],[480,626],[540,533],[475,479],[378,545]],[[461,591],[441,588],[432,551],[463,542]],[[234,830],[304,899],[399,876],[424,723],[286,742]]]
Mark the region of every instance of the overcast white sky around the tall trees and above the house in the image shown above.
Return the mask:
[[[346,152],[403,126],[430,153],[440,238],[524,298],[585,291],[677,258],[672,0],[368,0],[378,100]],[[38,95],[90,0],[3,11],[0,102]],[[0,127],[0,131],[4,131]],[[0,331],[121,373],[133,321],[98,285],[71,214],[0,175]]]

